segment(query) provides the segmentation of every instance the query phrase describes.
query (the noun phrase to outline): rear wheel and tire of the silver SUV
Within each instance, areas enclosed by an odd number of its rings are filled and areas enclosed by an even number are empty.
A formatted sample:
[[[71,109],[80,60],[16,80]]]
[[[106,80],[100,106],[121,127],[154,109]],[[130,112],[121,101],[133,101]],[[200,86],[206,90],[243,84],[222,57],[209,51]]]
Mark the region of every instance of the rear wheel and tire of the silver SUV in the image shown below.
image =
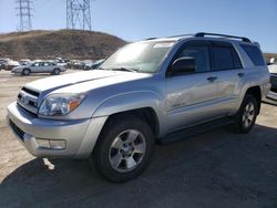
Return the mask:
[[[252,94],[246,94],[235,116],[234,128],[238,134],[250,132],[258,114],[258,101]]]

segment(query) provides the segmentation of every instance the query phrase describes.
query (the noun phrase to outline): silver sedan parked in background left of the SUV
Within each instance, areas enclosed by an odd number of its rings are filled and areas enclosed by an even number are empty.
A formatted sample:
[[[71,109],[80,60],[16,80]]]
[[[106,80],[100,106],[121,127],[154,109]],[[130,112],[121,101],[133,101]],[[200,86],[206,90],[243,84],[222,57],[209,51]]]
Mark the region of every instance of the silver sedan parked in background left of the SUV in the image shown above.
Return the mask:
[[[53,75],[59,75],[61,72],[65,71],[66,67],[64,65],[58,65],[51,61],[38,61],[27,65],[13,67],[11,73],[22,75],[30,75],[31,73],[51,73]]]

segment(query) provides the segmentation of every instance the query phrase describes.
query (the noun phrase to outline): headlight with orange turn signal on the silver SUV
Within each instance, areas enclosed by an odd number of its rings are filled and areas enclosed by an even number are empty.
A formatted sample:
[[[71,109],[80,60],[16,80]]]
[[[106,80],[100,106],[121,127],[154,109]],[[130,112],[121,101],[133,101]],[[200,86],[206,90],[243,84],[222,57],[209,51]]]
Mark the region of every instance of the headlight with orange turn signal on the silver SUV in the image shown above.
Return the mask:
[[[75,110],[84,94],[53,94],[43,100],[39,114],[45,116],[66,115]]]

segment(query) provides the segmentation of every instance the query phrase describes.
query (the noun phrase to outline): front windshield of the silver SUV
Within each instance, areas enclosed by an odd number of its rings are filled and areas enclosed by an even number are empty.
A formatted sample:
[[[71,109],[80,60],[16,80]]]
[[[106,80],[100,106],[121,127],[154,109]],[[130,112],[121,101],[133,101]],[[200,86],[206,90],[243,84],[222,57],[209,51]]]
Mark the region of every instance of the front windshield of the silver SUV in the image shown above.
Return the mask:
[[[116,51],[102,65],[103,70],[154,73],[175,42],[138,42]]]

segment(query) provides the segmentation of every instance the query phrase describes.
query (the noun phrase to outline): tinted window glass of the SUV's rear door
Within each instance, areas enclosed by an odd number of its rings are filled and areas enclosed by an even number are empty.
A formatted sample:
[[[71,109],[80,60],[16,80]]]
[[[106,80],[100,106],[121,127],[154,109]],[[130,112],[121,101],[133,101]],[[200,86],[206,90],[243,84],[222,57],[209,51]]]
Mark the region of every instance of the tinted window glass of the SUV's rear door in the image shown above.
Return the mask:
[[[233,51],[229,46],[213,46],[215,70],[233,69]]]

